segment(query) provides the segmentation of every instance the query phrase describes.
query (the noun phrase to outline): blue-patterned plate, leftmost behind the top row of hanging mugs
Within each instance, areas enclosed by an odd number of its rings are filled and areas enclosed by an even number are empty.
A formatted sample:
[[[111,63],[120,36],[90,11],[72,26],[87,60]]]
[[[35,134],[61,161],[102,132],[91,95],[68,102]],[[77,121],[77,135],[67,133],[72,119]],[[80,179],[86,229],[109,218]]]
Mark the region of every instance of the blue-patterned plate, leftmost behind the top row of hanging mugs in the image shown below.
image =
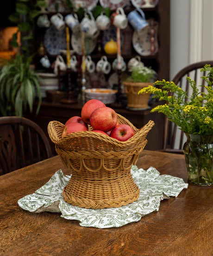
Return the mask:
[[[67,49],[66,30],[57,30],[51,25],[44,34],[44,46],[49,54],[58,55]]]

